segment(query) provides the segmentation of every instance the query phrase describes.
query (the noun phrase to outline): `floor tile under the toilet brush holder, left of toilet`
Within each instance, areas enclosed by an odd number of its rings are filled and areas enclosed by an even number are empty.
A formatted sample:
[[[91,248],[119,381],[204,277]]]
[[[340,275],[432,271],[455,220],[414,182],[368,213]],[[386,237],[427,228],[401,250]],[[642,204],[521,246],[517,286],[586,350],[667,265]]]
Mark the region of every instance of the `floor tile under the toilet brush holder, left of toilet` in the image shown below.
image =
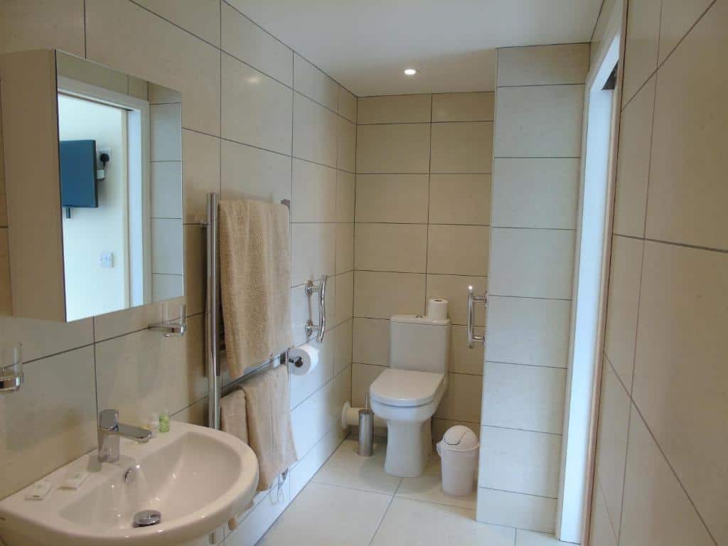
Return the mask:
[[[344,440],[331,459],[323,465],[314,481],[361,491],[395,494],[401,478],[384,472],[386,444],[375,444],[374,455],[360,457],[356,440]]]

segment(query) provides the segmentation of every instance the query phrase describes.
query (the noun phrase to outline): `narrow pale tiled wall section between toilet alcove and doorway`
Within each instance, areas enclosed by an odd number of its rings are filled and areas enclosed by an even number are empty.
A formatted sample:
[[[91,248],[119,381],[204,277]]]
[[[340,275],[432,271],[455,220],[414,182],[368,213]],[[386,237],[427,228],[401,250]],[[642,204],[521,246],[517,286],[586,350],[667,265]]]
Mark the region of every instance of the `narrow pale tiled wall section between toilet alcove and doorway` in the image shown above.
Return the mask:
[[[588,63],[498,52],[478,519],[534,531],[555,526]]]

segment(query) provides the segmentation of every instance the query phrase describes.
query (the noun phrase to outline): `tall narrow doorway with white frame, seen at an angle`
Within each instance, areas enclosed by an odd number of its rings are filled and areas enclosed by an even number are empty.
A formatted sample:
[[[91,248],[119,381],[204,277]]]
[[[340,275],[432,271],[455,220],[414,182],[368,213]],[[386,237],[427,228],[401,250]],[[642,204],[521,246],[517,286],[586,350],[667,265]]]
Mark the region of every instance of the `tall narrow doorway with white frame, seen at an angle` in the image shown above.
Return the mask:
[[[622,10],[615,7],[587,77],[569,373],[564,406],[557,537],[586,544],[601,387],[620,113]]]

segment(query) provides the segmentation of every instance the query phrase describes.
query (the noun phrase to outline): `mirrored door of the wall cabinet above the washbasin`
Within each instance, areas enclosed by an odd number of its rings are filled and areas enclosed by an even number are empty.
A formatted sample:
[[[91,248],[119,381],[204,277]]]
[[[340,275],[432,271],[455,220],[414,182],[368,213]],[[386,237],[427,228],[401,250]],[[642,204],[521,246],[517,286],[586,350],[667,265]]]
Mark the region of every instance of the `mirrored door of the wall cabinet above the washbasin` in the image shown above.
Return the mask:
[[[181,93],[56,67],[66,320],[182,296]]]

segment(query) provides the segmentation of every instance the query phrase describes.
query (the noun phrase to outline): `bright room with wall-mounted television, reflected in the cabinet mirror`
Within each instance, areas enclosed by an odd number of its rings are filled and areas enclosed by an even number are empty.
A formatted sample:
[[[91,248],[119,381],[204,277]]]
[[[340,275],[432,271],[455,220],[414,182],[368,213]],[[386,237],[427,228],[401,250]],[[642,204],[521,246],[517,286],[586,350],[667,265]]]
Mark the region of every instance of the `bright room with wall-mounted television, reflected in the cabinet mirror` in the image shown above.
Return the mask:
[[[138,234],[129,229],[128,187],[140,181],[128,175],[127,113],[58,95],[68,320],[131,304],[129,238]],[[108,155],[106,165],[99,160],[102,153]]]

